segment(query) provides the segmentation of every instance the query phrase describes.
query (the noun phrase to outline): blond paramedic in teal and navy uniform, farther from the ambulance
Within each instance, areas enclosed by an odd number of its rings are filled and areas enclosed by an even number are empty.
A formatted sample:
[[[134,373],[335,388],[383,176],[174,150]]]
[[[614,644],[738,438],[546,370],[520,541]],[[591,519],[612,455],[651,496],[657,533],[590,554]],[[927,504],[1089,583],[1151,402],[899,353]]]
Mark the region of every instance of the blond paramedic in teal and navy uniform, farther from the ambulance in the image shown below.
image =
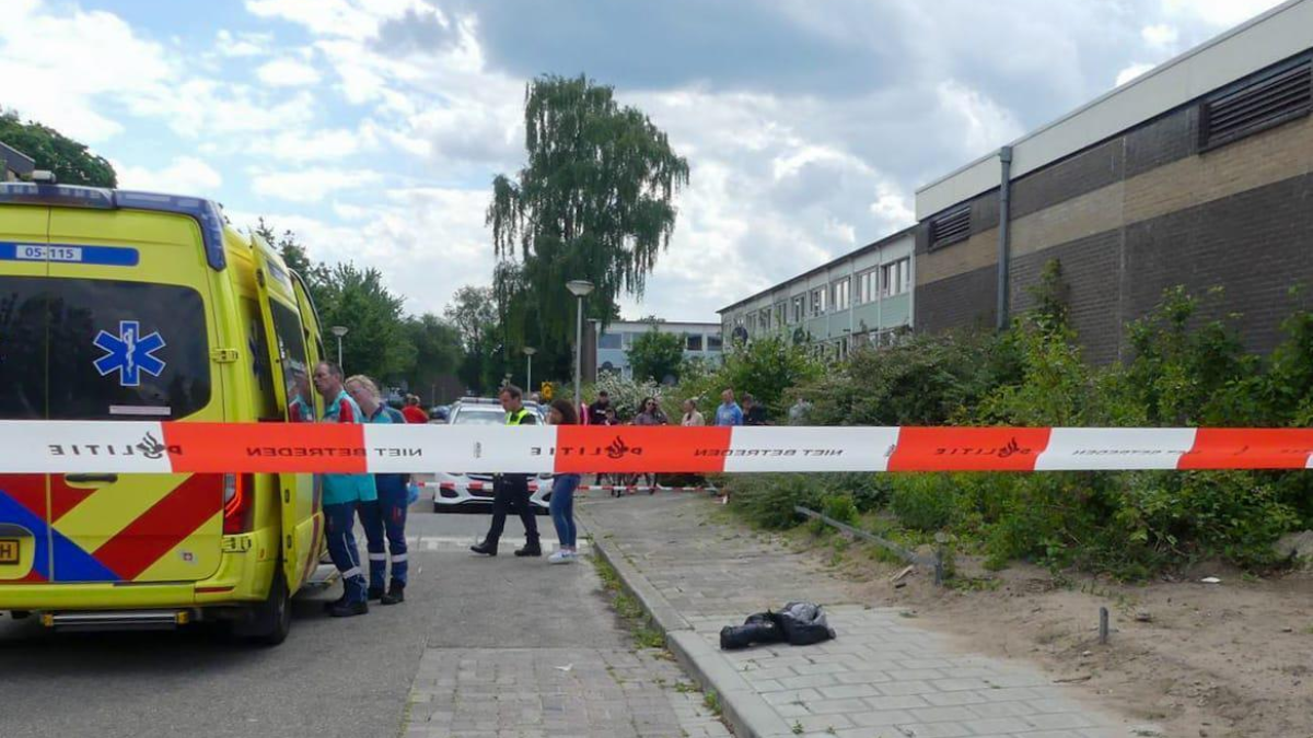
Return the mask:
[[[379,398],[378,385],[364,374],[347,380],[347,394],[360,406],[369,423],[404,424],[402,411],[387,407]],[[369,599],[394,605],[406,600],[407,569],[406,508],[408,507],[406,474],[374,474],[378,499],[360,503],[360,524],[365,528],[369,549]],[[383,550],[386,538],[387,550]],[[391,580],[387,567],[391,563]],[[387,583],[387,588],[383,584]]]

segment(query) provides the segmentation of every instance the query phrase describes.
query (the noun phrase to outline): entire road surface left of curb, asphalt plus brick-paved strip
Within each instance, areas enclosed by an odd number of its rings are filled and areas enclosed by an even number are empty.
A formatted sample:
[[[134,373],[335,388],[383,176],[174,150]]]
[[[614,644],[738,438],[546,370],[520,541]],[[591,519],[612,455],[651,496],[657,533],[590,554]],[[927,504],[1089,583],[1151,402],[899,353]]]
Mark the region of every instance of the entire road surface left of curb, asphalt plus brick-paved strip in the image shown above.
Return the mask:
[[[487,516],[431,508],[412,512],[404,604],[335,620],[320,603],[336,587],[298,599],[276,649],[0,616],[0,735],[727,735],[676,664],[635,653],[590,565],[516,559],[517,521],[503,555],[473,557]]]

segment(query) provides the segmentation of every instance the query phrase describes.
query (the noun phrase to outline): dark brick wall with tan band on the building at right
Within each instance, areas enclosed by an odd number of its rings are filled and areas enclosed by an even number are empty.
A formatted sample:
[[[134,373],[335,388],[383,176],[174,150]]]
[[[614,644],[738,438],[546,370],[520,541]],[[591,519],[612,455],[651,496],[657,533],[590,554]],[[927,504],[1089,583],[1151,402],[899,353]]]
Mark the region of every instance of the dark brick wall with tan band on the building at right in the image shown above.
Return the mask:
[[[1313,118],[1205,151],[1199,129],[1184,105],[1014,180],[1012,314],[1057,259],[1091,361],[1125,357],[1124,326],[1175,285],[1222,288],[1213,313],[1241,313],[1246,347],[1270,351],[1289,288],[1313,288]],[[934,217],[918,226],[918,330],[994,324],[998,189],[968,204],[966,240],[932,250]]]

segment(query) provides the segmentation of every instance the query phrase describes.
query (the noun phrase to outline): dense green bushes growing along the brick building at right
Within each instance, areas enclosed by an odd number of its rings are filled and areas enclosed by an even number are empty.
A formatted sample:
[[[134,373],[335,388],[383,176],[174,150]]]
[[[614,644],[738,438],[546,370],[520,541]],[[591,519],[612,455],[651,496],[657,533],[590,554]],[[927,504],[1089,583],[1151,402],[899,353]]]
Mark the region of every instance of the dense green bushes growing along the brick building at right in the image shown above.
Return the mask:
[[[780,397],[805,397],[809,422],[823,425],[1313,425],[1313,313],[1301,290],[1292,290],[1283,343],[1266,357],[1245,351],[1220,290],[1166,290],[1127,327],[1127,360],[1108,366],[1082,356],[1056,263],[1032,294],[1033,309],[1002,335],[915,336],[861,349],[823,373],[794,372]],[[738,361],[769,366],[780,348],[750,348]],[[733,483],[743,488],[735,510],[772,528],[796,525],[796,504],[839,520],[888,506],[914,537],[957,534],[989,566],[1025,559],[1124,579],[1213,557],[1262,569],[1274,563],[1279,536],[1313,527],[1313,474],[1304,471],[809,474]]]

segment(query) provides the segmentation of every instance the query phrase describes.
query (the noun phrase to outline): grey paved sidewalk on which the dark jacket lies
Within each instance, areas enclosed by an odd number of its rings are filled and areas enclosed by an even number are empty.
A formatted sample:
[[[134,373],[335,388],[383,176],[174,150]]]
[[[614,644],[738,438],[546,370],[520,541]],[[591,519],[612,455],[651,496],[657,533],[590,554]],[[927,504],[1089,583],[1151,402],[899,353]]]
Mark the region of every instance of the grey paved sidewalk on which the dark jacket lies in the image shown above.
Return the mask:
[[[667,629],[691,671],[723,692],[739,738],[1113,738],[1158,735],[1078,704],[1037,668],[955,650],[897,611],[856,601],[807,557],[734,524],[713,503],[664,495],[590,499],[599,553]],[[788,600],[826,605],[838,638],[718,649],[723,625]]]

